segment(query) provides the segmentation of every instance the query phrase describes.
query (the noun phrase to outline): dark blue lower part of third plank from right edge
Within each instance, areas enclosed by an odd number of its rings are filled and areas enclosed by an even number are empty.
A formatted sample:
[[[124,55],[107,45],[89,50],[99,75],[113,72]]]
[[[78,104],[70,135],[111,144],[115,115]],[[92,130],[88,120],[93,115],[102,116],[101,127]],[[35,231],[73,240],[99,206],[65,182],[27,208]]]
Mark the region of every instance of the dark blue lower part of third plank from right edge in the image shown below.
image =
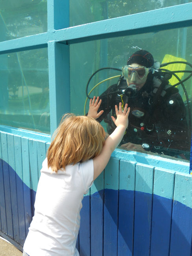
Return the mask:
[[[135,191],[134,256],[150,255],[152,195]]]

